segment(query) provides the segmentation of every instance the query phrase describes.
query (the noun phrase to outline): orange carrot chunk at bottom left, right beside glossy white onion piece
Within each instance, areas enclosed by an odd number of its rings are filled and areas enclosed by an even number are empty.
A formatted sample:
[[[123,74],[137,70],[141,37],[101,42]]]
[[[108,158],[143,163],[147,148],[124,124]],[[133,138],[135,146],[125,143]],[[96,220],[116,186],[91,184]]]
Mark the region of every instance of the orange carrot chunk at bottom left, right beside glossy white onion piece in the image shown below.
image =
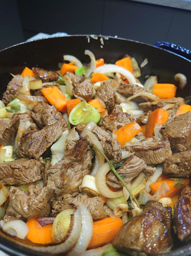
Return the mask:
[[[50,221],[50,224],[45,224],[45,222],[42,222],[43,219],[46,218],[33,218],[27,221],[29,232],[26,238],[33,243],[46,244],[53,242],[51,238],[53,221],[52,223]]]

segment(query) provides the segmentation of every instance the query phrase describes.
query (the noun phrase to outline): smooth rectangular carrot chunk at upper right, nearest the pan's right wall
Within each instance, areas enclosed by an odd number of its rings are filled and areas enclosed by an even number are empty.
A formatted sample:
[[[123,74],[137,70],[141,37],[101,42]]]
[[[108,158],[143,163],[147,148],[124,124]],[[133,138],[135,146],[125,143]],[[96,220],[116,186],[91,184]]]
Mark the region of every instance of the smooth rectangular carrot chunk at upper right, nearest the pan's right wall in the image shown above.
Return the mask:
[[[177,87],[173,84],[155,84],[153,86],[153,94],[159,96],[160,99],[171,99],[176,95]]]

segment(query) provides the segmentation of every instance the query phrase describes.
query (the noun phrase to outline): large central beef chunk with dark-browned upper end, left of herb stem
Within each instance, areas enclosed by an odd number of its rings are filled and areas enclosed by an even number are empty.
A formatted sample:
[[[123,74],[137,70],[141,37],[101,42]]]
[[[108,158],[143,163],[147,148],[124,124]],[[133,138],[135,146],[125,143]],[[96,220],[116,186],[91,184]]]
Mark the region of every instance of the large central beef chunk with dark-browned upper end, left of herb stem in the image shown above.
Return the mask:
[[[75,147],[66,151],[62,159],[47,170],[47,187],[55,189],[57,198],[62,198],[66,193],[72,196],[78,192],[83,177],[90,174],[91,160],[87,139],[81,137]]]

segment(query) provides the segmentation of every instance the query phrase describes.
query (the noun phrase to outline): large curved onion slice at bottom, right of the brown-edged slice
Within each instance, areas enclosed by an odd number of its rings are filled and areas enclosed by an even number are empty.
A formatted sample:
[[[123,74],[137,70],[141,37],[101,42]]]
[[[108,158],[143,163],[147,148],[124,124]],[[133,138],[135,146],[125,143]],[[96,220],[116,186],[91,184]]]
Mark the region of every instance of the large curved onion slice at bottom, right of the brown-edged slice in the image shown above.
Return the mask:
[[[93,232],[93,220],[90,211],[81,202],[77,202],[76,205],[81,210],[81,233],[77,243],[73,247],[72,251],[67,256],[80,256],[84,252],[90,243]]]

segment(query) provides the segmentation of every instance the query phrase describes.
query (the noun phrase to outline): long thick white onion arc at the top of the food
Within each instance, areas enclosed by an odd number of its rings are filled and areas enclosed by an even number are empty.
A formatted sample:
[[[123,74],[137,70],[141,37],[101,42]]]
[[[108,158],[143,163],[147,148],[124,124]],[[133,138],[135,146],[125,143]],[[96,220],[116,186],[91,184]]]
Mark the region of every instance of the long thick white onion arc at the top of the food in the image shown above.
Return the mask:
[[[99,69],[99,73],[106,74],[106,73],[117,73],[118,72],[121,75],[125,76],[130,84],[136,84],[136,79],[130,71],[128,71],[127,69],[125,69],[123,67],[119,67],[115,64],[108,64],[108,65],[100,66],[102,68]]]

